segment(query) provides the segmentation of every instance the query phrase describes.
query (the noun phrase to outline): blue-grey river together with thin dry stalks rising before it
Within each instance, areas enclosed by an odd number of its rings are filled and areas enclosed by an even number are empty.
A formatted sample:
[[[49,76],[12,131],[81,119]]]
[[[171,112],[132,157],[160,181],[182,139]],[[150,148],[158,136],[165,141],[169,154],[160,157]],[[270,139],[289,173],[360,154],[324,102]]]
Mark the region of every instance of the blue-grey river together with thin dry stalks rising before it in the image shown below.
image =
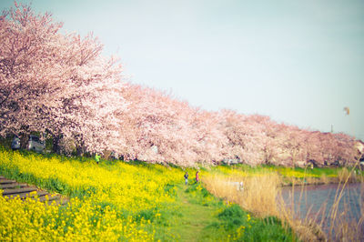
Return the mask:
[[[314,220],[329,241],[363,241],[364,183],[282,187],[286,206]]]

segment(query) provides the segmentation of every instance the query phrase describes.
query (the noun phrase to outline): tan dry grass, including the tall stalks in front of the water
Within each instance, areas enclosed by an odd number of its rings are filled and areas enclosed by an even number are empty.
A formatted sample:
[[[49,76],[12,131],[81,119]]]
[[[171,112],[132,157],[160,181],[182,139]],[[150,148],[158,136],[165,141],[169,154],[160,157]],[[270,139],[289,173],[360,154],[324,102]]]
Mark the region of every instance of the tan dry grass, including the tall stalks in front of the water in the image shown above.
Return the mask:
[[[214,196],[223,197],[230,202],[237,203],[257,217],[278,217],[283,226],[291,227],[300,240],[363,241],[364,206],[361,204],[359,223],[350,221],[349,217],[346,216],[349,213],[348,205],[345,206],[346,208],[343,211],[339,211],[339,202],[343,197],[345,186],[352,176],[350,174],[352,172],[348,174],[343,171],[340,175],[343,185],[338,188],[334,204],[331,207],[323,204],[319,212],[316,213],[316,217],[308,216],[311,214],[310,209],[308,209],[307,215],[300,216],[304,217],[303,219],[298,217],[299,204],[294,204],[294,197],[292,197],[290,206],[283,202],[280,188],[282,184],[281,176],[276,173],[230,177],[213,175],[203,177],[203,182],[207,190]],[[234,186],[239,182],[244,183],[242,190]],[[306,186],[295,187],[293,185],[292,194],[294,194],[295,189],[300,190],[298,201],[302,201]],[[325,213],[328,213],[327,210],[329,210],[329,217],[324,216]],[[322,218],[319,219],[319,217]],[[322,227],[328,223],[330,225],[329,233],[325,233]]]

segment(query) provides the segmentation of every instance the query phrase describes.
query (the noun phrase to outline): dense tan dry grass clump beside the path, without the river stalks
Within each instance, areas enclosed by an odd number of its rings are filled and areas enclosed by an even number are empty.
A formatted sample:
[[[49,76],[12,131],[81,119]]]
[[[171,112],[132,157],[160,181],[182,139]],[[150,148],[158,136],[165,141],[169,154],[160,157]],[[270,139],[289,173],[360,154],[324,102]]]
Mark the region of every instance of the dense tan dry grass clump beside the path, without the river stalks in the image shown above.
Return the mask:
[[[244,189],[229,186],[231,182],[243,182]],[[281,177],[276,173],[260,174],[257,176],[207,176],[203,182],[207,190],[216,197],[237,203],[257,217],[274,216],[291,227],[303,241],[315,241],[323,237],[323,233],[313,221],[301,221],[295,218],[288,207],[279,202]],[[318,236],[319,235],[319,236]]]

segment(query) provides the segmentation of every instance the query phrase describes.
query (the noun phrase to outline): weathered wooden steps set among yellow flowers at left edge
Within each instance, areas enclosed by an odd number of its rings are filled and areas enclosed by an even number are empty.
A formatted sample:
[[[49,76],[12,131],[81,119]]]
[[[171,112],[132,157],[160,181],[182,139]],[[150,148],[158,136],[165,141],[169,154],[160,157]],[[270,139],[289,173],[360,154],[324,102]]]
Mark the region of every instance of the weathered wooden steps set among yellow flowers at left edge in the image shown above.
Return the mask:
[[[0,189],[3,190],[3,197],[9,199],[19,197],[21,200],[25,200],[26,197],[30,197],[31,199],[46,202],[48,205],[54,204],[54,202],[56,202],[56,205],[65,205],[68,202],[66,197],[51,195],[38,187],[17,183],[15,180],[6,179],[4,176],[0,176]]]

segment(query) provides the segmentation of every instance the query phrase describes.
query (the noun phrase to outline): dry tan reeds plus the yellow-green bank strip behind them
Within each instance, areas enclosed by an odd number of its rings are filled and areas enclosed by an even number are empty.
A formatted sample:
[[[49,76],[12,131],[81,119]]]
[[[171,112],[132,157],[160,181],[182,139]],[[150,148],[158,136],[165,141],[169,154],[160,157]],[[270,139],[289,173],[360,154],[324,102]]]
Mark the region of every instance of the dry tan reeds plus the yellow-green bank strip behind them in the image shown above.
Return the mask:
[[[281,190],[286,186],[288,190],[298,191],[296,196],[298,200],[303,197],[302,193],[306,192],[305,187],[308,187],[308,182],[319,184],[322,179],[326,182],[339,182],[337,197],[333,202],[334,206],[329,207],[330,220],[335,222],[337,230],[340,233],[335,234],[341,239],[350,237],[352,241],[360,241],[360,227],[352,225],[352,221],[346,217],[341,217],[340,214],[348,213],[345,207],[339,210],[339,202],[342,198],[342,186],[348,184],[349,181],[356,182],[361,179],[361,175],[352,178],[355,175],[354,170],[347,168],[314,168],[305,170],[302,168],[290,167],[275,167],[275,166],[219,166],[209,168],[211,171],[204,176],[204,183],[212,194],[217,197],[224,197],[227,201],[232,201],[244,209],[251,211],[258,217],[278,217],[283,223],[291,227],[299,239],[303,241],[326,240],[332,238],[332,234],[325,234],[320,221],[315,220],[315,217],[309,217],[308,214],[301,214],[303,217],[298,217],[298,207],[293,204],[287,206],[281,197]],[[327,179],[327,177],[332,177]],[[324,178],[322,178],[324,177]],[[310,180],[309,180],[310,179]],[[237,184],[243,184],[243,188],[237,187]],[[303,185],[296,187],[296,185]],[[290,187],[288,187],[290,186]],[[322,210],[325,209],[325,204],[321,203]],[[363,207],[364,209],[364,207]],[[364,210],[362,210],[364,211]],[[364,219],[362,217],[361,219]],[[332,230],[332,229],[331,229]],[[330,231],[331,231],[330,230]]]

